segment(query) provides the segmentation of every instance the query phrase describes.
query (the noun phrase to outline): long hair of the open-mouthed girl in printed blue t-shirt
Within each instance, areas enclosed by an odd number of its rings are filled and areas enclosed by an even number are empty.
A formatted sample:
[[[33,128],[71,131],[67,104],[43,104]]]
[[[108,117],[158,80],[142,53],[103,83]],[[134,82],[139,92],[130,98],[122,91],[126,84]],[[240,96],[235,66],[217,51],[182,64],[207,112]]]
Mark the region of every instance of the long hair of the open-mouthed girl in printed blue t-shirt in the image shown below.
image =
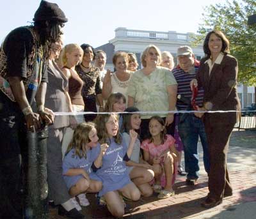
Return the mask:
[[[114,114],[114,113],[100,114],[95,119],[95,124],[96,124],[96,129],[97,129],[97,134],[99,137],[100,144],[105,144],[105,143],[110,144],[108,130],[106,128],[106,123],[108,122],[110,116],[114,116],[115,119],[118,121],[118,114]],[[119,129],[116,136],[114,136],[113,138],[115,139],[116,144],[122,143],[122,135],[120,134]]]

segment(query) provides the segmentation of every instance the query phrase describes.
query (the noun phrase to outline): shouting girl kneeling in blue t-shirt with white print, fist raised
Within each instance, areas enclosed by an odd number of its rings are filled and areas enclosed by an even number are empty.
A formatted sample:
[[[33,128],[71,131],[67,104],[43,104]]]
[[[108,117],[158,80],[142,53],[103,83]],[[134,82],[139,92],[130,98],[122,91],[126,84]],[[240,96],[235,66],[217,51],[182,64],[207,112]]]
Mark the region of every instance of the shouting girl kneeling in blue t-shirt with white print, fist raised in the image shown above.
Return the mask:
[[[118,131],[118,116],[116,114],[101,114],[96,119],[96,127],[100,144],[108,144],[102,158],[102,166],[96,174],[102,179],[102,190],[99,196],[104,196],[110,213],[116,217],[124,215],[124,202],[120,194],[127,199],[140,199],[140,190],[131,182],[125,161],[128,161],[138,134],[130,131],[129,146],[122,140]],[[93,150],[95,150],[93,148]]]

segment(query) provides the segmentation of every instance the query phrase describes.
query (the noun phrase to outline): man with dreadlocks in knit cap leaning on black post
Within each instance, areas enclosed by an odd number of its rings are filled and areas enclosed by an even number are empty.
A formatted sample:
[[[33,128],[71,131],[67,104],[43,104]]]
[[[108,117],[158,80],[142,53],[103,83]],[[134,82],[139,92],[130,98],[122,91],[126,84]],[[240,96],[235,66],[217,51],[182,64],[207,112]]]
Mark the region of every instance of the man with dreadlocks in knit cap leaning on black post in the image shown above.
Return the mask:
[[[67,18],[57,4],[41,1],[33,20],[32,26],[11,31],[0,48],[0,218],[22,218],[20,147],[26,145],[26,132],[53,122],[44,108],[46,65]],[[74,206],[63,208],[67,216],[83,218],[70,213]]]

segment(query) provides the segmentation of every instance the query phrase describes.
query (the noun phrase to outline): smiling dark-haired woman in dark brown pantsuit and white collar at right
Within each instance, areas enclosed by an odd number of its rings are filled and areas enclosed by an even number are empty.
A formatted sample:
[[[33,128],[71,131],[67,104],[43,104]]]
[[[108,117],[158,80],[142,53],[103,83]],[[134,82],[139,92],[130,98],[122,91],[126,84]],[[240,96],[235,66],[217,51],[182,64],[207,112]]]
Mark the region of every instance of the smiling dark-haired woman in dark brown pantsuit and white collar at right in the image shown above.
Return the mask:
[[[237,96],[237,60],[228,55],[229,42],[221,31],[211,31],[204,40],[205,57],[193,85],[204,88],[204,107],[198,110],[241,109]],[[209,144],[211,168],[209,172],[209,194],[202,203],[205,208],[221,204],[223,197],[232,195],[227,170],[227,152],[230,135],[239,119],[239,112],[195,113],[204,115],[205,132]]]

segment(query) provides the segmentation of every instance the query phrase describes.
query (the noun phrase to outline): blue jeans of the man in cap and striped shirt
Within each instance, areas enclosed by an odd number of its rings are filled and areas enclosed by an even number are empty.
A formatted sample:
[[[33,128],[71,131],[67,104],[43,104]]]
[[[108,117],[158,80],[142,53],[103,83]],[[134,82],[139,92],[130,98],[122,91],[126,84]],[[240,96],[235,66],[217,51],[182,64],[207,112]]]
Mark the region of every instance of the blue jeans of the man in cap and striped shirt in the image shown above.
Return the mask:
[[[197,179],[199,171],[198,138],[200,137],[204,152],[204,169],[207,173],[210,170],[209,150],[202,119],[193,114],[183,115],[179,121],[179,135],[184,144],[185,170],[188,172],[188,179]],[[182,118],[182,116],[181,116]],[[181,121],[182,120],[182,121]]]

